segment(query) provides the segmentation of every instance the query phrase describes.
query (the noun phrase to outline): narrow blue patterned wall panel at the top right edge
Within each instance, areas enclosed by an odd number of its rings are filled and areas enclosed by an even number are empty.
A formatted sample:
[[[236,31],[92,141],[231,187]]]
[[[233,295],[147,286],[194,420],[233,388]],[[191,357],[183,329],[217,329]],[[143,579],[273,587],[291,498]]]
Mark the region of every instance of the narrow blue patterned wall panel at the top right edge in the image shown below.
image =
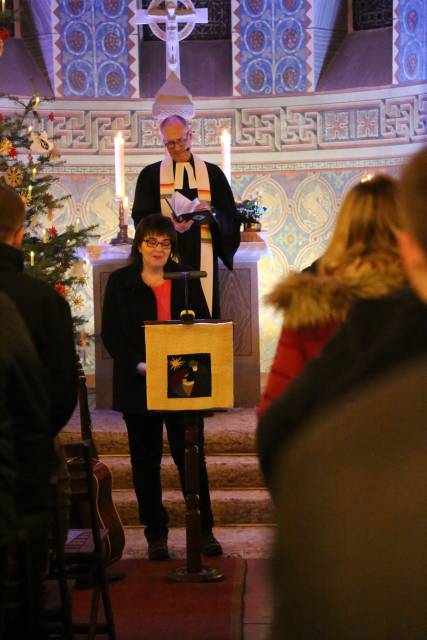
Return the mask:
[[[427,78],[427,0],[398,0],[394,61],[397,82]]]

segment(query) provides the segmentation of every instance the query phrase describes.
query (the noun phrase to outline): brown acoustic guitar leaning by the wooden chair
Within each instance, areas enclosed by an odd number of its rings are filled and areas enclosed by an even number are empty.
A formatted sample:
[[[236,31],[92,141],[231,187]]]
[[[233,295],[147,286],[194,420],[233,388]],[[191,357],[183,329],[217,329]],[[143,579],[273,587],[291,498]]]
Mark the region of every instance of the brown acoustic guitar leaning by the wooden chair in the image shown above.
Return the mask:
[[[86,375],[80,361],[78,362],[77,367],[79,382],[80,429],[82,439],[90,442],[98,524],[100,528],[108,530],[108,535],[105,538],[105,557],[106,564],[110,565],[113,564],[113,562],[120,560],[122,557],[125,546],[125,533],[122,521],[113,502],[113,482],[111,471],[107,465],[101,462],[96,450],[89,410]],[[82,505],[78,505],[77,509],[74,511],[72,510],[72,524],[73,519],[75,518],[78,518],[80,521],[77,526],[86,526],[85,508],[82,507]]]

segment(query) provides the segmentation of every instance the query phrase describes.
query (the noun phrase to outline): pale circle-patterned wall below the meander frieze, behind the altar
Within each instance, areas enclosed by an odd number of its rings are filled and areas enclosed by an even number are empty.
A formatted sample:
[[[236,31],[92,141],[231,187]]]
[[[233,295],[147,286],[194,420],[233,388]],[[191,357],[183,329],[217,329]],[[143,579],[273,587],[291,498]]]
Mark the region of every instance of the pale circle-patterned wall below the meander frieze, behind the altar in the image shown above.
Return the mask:
[[[290,270],[301,270],[323,252],[334,226],[337,207],[343,194],[366,172],[387,171],[396,174],[400,158],[370,161],[315,162],[277,164],[268,171],[265,165],[236,165],[232,188],[236,198],[246,198],[255,190],[262,192],[267,207],[263,231],[267,251],[259,262],[259,298],[261,332],[261,370],[268,371],[281,326],[281,317],[263,304],[264,295],[278,278]],[[99,242],[108,242],[117,234],[117,210],[114,204],[114,175],[110,167],[86,167],[76,172],[66,167],[60,175],[55,195],[68,195],[65,207],[55,219],[63,229],[80,218],[83,225],[97,224]],[[127,171],[126,191],[134,193],[137,171]],[[133,230],[130,229],[130,234]],[[93,331],[91,268],[87,264],[87,285],[83,290],[87,329]],[[92,349],[86,354],[88,372],[94,368]]]

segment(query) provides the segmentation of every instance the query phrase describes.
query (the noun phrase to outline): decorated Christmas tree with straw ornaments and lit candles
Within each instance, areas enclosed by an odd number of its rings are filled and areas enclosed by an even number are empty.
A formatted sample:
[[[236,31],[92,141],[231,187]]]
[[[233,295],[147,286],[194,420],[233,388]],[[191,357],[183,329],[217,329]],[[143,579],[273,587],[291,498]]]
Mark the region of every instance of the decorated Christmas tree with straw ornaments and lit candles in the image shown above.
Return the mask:
[[[45,119],[54,120],[54,113],[40,115],[37,95],[28,101],[7,98],[17,109],[0,113],[0,181],[18,193],[26,207],[22,245],[25,268],[68,300],[74,326],[78,327],[85,322],[79,315],[83,305],[79,289],[86,282],[86,274],[77,249],[94,237],[95,227],[81,228],[77,220],[59,232],[53,225],[54,211],[61,209],[69,197],[55,197],[51,190],[58,178],[49,169],[63,164],[59,149],[45,131]]]

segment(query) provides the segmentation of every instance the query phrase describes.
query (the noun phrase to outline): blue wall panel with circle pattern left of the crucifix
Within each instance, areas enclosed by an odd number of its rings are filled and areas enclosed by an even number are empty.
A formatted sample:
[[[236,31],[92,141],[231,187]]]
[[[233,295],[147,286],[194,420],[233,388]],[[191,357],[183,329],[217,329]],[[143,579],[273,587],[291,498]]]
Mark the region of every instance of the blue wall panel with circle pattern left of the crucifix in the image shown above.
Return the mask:
[[[138,97],[134,0],[54,1],[55,94]]]

